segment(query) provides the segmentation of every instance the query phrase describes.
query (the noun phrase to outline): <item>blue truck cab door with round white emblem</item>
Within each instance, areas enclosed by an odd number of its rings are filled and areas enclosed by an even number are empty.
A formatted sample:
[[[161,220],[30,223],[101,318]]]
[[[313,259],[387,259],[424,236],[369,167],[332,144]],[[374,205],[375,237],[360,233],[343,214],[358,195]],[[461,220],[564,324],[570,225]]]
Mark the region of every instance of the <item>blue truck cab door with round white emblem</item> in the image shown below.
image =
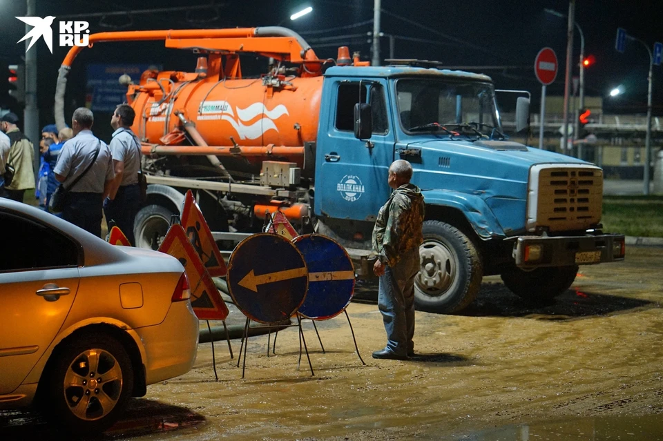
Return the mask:
[[[328,86],[329,106],[320,112],[316,158],[316,215],[338,219],[375,220],[390,196],[388,169],[394,161],[394,130],[387,119],[386,81],[338,79]],[[354,137],[354,105],[372,106],[373,133],[367,141]]]

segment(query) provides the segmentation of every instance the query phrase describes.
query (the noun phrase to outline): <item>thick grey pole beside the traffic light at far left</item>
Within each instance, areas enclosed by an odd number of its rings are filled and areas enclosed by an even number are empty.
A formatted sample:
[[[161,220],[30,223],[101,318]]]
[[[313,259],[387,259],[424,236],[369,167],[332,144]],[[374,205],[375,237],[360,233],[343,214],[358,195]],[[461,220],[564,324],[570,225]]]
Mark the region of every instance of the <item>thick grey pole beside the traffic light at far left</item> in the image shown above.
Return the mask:
[[[37,8],[35,6],[37,0],[26,0],[27,10],[26,16],[36,17]],[[32,26],[26,24],[26,34],[30,32]],[[39,109],[37,108],[37,46],[28,50],[30,39],[26,40],[26,108],[23,110],[23,133],[32,141],[35,147],[35,176],[39,170],[39,140],[41,133],[39,133]]]

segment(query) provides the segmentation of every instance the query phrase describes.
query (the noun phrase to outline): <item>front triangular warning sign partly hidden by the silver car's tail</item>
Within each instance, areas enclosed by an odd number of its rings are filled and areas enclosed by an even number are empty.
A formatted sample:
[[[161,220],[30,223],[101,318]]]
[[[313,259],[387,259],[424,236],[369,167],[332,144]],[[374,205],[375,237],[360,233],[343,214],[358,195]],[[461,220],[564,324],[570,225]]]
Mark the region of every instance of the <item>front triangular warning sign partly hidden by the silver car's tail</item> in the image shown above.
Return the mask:
[[[191,285],[191,306],[200,320],[226,320],[228,307],[180,224],[171,226],[159,251],[182,263]]]

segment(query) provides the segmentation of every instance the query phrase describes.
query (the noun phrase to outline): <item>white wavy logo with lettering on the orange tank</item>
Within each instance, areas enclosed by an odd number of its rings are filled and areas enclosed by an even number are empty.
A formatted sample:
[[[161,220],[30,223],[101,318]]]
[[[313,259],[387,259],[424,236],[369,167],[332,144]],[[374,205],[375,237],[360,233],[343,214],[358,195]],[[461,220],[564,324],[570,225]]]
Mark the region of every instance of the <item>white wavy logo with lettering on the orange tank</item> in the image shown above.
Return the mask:
[[[203,101],[200,104],[198,120],[220,119],[228,121],[240,139],[258,139],[269,130],[276,130],[278,132],[273,119],[289,115],[288,109],[283,104],[279,104],[272,110],[269,110],[265,107],[265,104],[253,103],[244,109],[235,107],[235,111],[237,112],[237,117],[235,116],[235,112],[233,112],[233,107],[227,101]],[[242,124],[248,123],[260,115],[262,115],[262,118],[253,124]]]

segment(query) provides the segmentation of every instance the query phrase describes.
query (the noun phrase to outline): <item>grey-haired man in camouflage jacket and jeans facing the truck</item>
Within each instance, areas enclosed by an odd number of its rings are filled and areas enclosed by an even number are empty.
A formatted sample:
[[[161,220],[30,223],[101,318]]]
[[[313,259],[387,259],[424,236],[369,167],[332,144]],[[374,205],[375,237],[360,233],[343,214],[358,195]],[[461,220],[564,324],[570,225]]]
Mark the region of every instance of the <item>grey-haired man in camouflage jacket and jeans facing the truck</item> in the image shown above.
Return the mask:
[[[387,331],[387,346],[374,358],[407,360],[414,355],[414,277],[419,273],[419,246],[423,243],[424,204],[421,190],[410,184],[412,166],[394,161],[389,186],[394,193],[380,208],[373,228],[373,266],[380,277],[378,307]]]

